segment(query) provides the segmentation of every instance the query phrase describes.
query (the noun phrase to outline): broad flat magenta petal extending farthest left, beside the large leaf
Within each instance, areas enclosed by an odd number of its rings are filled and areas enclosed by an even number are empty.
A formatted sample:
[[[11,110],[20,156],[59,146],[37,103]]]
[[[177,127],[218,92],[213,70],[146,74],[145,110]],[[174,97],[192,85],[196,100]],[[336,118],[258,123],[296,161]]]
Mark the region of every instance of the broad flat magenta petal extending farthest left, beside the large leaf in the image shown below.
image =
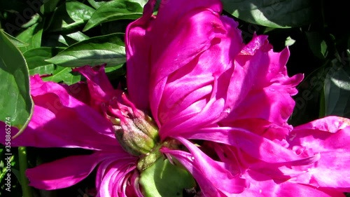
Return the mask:
[[[11,141],[12,146],[120,149],[111,123],[59,84],[31,77],[31,94],[34,114],[25,132]],[[16,133],[18,129],[13,128],[11,134]],[[5,142],[4,135],[0,142]]]

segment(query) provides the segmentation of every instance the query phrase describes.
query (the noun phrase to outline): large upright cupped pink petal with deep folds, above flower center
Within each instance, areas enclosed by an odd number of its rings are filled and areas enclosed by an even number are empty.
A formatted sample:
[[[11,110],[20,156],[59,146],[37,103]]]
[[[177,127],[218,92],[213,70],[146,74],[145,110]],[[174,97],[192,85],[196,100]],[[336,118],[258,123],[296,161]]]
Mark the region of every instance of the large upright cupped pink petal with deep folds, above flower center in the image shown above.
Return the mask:
[[[209,11],[194,13],[183,21],[193,23],[188,27],[193,29],[186,30],[186,34],[179,34],[179,38],[176,39],[181,41],[171,48],[181,48],[181,53],[183,50],[190,50],[186,55],[193,57],[174,57],[173,60],[169,55],[165,56],[160,60],[164,62],[160,62],[159,65],[176,66],[162,67],[162,72],[156,72],[155,69],[153,76],[164,77],[159,82],[151,83],[151,87],[155,85],[155,91],[151,94],[151,107],[153,106],[153,115],[162,125],[160,133],[163,138],[180,130],[188,132],[193,128],[209,125],[227,116],[232,104],[239,100],[241,91],[237,84],[242,81],[243,76],[239,74],[239,68],[232,65],[232,59],[242,45],[236,28],[237,23],[228,18],[220,18]],[[212,23],[205,21],[215,22],[216,28],[221,29],[219,32],[227,33],[215,32],[212,30]],[[193,40],[202,43],[193,43]],[[193,46],[189,46],[188,43],[193,43]],[[208,44],[210,45],[205,46]],[[197,49],[198,46],[204,48]],[[193,48],[199,50],[197,54],[193,53]],[[177,60],[185,62],[169,62]],[[155,67],[157,66],[158,64],[155,64]],[[236,94],[229,95],[232,91]],[[159,98],[161,100],[157,106]]]

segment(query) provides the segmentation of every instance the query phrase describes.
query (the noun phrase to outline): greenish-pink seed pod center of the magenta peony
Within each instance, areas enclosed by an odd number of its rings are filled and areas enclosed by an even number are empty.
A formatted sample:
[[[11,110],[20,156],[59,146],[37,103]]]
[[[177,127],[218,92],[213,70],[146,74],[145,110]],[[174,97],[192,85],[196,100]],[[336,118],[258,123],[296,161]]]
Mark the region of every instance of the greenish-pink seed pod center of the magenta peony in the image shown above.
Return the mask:
[[[159,149],[158,126],[153,119],[137,109],[125,94],[115,97],[105,108],[106,117],[113,123],[119,144],[128,153],[139,156],[137,168],[145,170],[162,154]]]

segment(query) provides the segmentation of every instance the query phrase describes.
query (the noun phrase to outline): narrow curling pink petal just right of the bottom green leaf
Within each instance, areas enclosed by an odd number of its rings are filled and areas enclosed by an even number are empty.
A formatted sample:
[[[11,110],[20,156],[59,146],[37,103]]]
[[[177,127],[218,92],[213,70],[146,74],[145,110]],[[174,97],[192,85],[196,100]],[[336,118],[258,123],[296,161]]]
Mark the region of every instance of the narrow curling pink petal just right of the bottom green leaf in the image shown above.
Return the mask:
[[[240,193],[246,187],[246,182],[240,177],[233,176],[228,170],[223,168],[223,165],[219,165],[216,161],[212,160],[204,154],[200,149],[198,149],[194,144],[188,140],[178,137],[183,145],[185,145],[191,152],[192,156],[183,157],[186,153],[180,154],[176,151],[166,151],[162,149],[163,153],[172,154],[179,159],[179,161],[191,172],[193,176],[199,182],[201,189],[206,189],[208,186],[208,191],[213,191],[214,188],[220,192],[218,193]],[[192,165],[192,166],[191,166]],[[193,168],[195,168],[193,170]],[[210,169],[210,170],[208,170]],[[206,192],[208,192],[206,191]],[[207,193],[206,195],[209,195]],[[209,195],[211,196],[211,195]]]

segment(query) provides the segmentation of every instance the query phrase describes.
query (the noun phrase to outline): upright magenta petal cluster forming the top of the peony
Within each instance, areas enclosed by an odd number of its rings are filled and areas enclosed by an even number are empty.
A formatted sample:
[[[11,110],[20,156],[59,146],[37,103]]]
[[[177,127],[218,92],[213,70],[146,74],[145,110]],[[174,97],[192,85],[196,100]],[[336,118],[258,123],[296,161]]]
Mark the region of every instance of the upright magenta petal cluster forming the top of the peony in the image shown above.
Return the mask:
[[[163,137],[211,125],[231,111],[230,119],[253,116],[288,127],[290,95],[302,74],[288,77],[287,48],[272,52],[267,36],[244,46],[238,23],[221,15],[221,1],[162,1],[157,16],[154,4],[127,28],[127,84],[136,106],[162,125]]]

